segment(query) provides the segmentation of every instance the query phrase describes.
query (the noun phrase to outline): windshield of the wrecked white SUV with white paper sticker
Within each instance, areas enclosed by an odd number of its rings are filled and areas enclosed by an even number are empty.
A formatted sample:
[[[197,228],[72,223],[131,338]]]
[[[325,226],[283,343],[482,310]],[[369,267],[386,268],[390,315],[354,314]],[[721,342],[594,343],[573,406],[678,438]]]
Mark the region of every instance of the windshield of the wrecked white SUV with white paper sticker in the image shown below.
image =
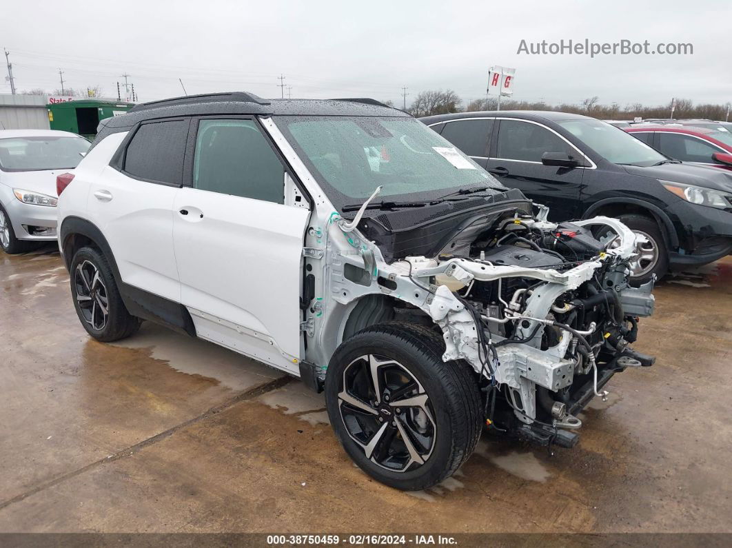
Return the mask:
[[[334,205],[435,200],[451,191],[505,189],[421,122],[403,117],[278,116],[277,126]],[[495,190],[491,190],[495,189]]]

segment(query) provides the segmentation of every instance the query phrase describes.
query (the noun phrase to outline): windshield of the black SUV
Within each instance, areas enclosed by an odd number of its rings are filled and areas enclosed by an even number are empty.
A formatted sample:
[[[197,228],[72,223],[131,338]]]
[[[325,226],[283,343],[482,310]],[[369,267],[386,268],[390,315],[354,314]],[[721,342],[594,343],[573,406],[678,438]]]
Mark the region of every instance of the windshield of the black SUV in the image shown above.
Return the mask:
[[[565,120],[559,125],[613,164],[647,167],[668,159],[629,133],[600,120]]]

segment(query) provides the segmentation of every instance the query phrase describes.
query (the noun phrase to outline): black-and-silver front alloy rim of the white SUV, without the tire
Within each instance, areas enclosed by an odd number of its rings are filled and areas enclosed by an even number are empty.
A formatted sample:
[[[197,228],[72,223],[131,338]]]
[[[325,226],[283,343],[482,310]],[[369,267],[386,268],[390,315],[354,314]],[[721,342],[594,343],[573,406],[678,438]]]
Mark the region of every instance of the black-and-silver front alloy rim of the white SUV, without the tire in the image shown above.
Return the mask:
[[[367,459],[392,472],[427,462],[437,435],[434,410],[406,367],[385,356],[360,356],[343,370],[340,388],[343,424]]]

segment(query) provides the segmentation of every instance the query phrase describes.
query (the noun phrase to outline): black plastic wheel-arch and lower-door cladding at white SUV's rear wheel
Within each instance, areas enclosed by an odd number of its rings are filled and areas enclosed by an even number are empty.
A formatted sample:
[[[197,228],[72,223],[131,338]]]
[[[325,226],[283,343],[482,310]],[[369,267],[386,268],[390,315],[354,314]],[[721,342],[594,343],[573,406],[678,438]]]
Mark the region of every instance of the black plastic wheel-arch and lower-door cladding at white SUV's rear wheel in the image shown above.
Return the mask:
[[[138,318],[160,323],[179,333],[191,337],[196,336],[193,318],[190,317],[188,309],[182,304],[164,299],[140,288],[135,288],[135,286],[122,281],[112,248],[102,231],[97,225],[81,217],[66,217],[61,222],[61,229],[59,230],[59,247],[64,254],[64,266],[68,271],[71,270],[71,261],[73,259],[70,246],[72,236],[84,236],[101,249],[105,258],[109,261],[114,281],[117,288],[119,288],[119,295],[122,297],[127,312]]]

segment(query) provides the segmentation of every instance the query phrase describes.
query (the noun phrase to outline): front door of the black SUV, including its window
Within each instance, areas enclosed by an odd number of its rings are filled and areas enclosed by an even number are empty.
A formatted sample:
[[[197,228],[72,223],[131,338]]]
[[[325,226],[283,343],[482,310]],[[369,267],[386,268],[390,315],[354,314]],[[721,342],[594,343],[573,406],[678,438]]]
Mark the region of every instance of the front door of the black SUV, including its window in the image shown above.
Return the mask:
[[[545,152],[563,152],[583,162],[580,153],[558,133],[543,124],[500,119],[498,138],[488,160],[488,171],[509,188],[518,188],[537,203],[549,206],[552,220],[580,215],[583,168],[558,168],[542,164]]]

